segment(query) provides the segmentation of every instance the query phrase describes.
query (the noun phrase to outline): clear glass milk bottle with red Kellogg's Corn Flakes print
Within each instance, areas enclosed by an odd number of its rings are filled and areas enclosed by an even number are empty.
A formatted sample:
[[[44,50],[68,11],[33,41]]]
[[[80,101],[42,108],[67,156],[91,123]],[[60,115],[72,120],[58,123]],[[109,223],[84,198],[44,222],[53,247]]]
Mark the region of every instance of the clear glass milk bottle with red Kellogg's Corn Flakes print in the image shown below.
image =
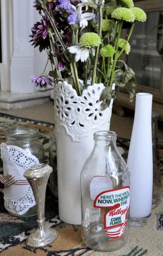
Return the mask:
[[[94,148],[81,174],[82,237],[95,251],[115,251],[129,237],[130,178],[116,133],[94,133]]]

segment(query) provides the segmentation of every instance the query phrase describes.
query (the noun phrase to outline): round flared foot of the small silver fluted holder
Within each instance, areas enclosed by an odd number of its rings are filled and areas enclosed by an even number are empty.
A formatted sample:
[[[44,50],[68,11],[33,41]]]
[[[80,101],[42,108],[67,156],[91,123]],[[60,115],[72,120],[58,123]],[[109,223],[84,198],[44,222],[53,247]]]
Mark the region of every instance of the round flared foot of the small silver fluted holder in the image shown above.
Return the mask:
[[[50,228],[45,223],[42,227],[37,228],[29,238],[26,244],[30,247],[44,247],[57,239],[58,232],[56,229]]]

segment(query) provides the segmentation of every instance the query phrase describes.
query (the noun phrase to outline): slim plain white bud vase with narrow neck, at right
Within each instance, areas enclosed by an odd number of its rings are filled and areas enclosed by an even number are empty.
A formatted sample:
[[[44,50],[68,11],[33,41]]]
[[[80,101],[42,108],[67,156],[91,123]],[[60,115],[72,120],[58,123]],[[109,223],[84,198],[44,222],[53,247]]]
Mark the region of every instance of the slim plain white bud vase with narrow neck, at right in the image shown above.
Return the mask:
[[[142,226],[152,208],[152,94],[137,93],[131,142],[128,153],[130,172],[130,225]]]

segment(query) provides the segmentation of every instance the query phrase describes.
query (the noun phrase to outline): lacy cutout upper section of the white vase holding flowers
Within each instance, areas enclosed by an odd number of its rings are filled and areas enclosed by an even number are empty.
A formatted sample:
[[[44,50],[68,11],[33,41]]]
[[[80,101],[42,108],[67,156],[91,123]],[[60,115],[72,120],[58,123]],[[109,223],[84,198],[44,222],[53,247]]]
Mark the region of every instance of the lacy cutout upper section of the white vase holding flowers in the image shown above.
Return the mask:
[[[113,100],[109,108],[102,110],[100,95],[105,87],[102,83],[89,86],[77,96],[71,84],[58,82],[55,87],[55,121],[56,127],[65,127],[73,141],[80,141],[95,126],[108,129],[112,114]],[[98,129],[97,129],[98,130]]]

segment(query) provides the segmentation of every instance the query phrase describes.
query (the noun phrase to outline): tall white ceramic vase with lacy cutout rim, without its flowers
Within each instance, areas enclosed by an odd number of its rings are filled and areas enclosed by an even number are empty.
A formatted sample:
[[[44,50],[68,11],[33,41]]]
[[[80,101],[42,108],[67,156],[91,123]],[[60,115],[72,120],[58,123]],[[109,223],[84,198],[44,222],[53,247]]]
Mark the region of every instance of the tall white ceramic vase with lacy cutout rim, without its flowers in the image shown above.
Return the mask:
[[[92,151],[93,133],[110,129],[113,100],[101,109],[103,89],[102,83],[94,84],[77,96],[66,81],[55,87],[59,217],[66,223],[82,222],[80,172]]]

